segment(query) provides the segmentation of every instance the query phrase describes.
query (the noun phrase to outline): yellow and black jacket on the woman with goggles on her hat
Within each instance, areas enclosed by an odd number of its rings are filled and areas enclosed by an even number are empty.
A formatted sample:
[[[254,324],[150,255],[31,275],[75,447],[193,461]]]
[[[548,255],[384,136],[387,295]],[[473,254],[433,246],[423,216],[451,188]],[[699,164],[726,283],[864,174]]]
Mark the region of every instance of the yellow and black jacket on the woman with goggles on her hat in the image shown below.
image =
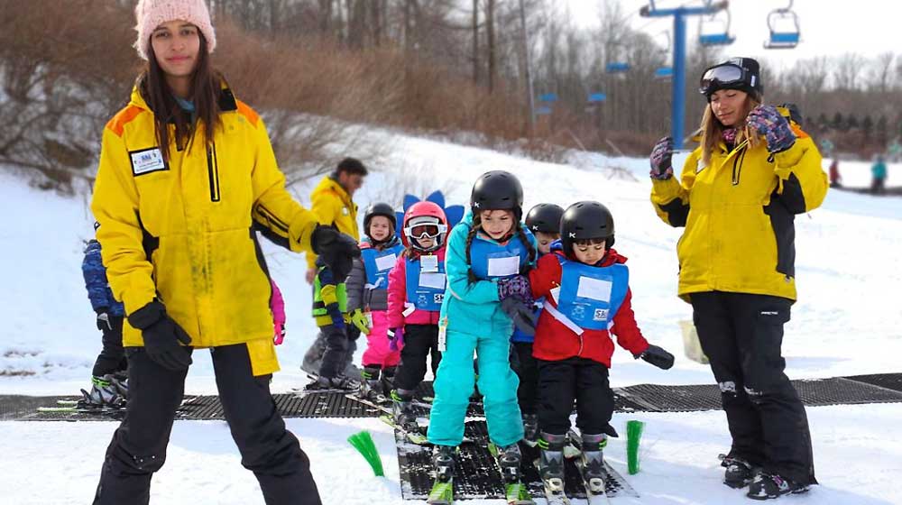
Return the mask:
[[[705,166],[695,149],[680,180],[652,179],[651,202],[672,226],[685,226],[676,245],[679,296],[731,291],[796,299],[795,216],[819,207],[827,175],[815,142],[791,123],[796,143],[770,157],[763,140],[722,143]]]

